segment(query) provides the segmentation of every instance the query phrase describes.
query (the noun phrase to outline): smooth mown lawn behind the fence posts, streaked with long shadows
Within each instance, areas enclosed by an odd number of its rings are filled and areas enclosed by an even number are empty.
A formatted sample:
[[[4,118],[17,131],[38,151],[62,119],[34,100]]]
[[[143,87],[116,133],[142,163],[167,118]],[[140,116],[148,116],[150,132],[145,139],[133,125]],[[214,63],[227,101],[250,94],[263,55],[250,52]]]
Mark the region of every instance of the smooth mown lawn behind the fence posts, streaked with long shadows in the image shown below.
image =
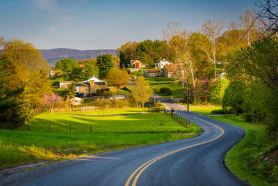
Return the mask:
[[[83,113],[79,113],[83,114]],[[44,132],[190,132],[163,113],[133,114],[125,116],[91,117],[67,114],[41,114],[29,122],[31,131]],[[19,128],[27,130],[27,125]]]

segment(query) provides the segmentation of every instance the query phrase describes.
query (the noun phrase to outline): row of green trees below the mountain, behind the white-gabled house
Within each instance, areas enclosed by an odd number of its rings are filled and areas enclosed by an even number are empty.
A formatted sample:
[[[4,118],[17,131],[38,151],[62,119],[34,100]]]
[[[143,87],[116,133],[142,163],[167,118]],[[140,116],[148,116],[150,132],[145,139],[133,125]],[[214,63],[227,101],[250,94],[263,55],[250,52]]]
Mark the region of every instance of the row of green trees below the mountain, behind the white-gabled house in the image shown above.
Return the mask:
[[[97,59],[75,61],[75,59],[60,59],[55,64],[56,78],[73,80],[75,82],[89,79],[93,75],[105,78],[112,67],[119,66],[120,59],[111,54],[97,56]]]

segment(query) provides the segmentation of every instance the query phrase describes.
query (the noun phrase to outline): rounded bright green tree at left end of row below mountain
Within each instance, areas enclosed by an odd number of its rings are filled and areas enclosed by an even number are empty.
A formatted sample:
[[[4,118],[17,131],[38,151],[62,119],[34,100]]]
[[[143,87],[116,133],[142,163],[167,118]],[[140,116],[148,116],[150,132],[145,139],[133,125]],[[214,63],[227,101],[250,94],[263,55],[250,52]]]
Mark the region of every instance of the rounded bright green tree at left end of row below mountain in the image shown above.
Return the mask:
[[[62,77],[64,80],[70,80],[72,72],[76,70],[76,68],[79,68],[78,63],[76,63],[75,59],[65,58],[65,59],[59,59],[55,63],[56,74]],[[76,77],[74,75],[74,77]]]

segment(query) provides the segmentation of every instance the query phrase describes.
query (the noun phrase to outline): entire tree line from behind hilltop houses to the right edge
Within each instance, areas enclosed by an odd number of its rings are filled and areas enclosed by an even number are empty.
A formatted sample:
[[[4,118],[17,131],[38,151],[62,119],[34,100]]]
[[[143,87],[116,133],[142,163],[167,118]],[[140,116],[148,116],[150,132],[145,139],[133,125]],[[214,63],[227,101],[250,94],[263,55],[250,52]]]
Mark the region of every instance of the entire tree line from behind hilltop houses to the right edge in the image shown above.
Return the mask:
[[[204,20],[199,31],[171,22],[163,40],[126,42],[117,49],[121,67],[131,59],[153,66],[172,62],[190,102],[222,104],[223,113],[243,113],[247,121],[266,123],[278,132],[277,4],[258,1],[258,13],[245,10],[238,22]]]

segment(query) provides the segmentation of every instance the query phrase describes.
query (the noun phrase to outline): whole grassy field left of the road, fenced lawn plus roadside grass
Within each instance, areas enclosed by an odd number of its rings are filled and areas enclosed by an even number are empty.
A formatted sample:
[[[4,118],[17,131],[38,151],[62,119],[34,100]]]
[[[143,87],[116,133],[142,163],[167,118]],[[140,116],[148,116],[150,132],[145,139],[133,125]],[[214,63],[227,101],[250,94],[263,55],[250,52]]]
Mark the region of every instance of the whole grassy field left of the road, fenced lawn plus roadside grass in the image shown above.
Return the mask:
[[[142,109],[77,111],[72,114],[99,116],[138,111]],[[49,124],[51,132],[48,131]],[[27,131],[27,125],[24,125],[18,130],[0,130],[0,169],[187,139],[201,132],[197,125],[188,129],[163,113],[106,117],[41,114],[30,121],[29,129]]]

